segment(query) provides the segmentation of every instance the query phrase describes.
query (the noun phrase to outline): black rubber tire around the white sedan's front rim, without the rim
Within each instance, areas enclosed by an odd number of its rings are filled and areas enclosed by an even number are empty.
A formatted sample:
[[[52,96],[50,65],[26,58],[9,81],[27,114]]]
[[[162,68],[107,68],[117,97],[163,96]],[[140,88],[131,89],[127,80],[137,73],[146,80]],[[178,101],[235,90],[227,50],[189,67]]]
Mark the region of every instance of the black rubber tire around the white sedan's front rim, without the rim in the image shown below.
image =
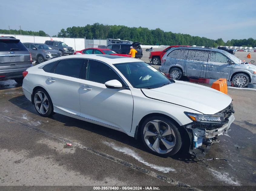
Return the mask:
[[[175,146],[168,153],[160,154],[160,153],[158,153],[156,151],[153,151],[147,145],[147,143],[145,142],[144,133],[143,133],[144,132],[144,128],[145,128],[145,126],[147,125],[148,122],[153,121],[153,120],[161,120],[161,121],[167,123],[171,127],[171,129],[174,131],[174,133],[175,133]],[[142,140],[143,144],[145,145],[145,147],[147,148],[147,150],[150,151],[151,153],[153,153],[155,155],[158,155],[158,156],[161,156],[161,157],[168,157],[168,156],[172,156],[172,155],[176,154],[180,150],[180,148],[182,146],[181,132],[179,131],[178,127],[170,119],[168,119],[166,117],[151,116],[151,117],[145,119],[145,121],[141,124],[140,134],[141,134],[141,140]]]

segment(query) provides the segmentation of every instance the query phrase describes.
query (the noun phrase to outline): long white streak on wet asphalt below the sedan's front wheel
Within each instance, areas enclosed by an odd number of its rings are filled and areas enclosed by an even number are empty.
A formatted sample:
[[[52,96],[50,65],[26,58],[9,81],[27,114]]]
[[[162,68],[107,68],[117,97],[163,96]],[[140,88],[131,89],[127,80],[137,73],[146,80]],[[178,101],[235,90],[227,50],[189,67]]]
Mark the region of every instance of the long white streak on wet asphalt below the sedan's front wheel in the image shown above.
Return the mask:
[[[150,164],[148,163],[147,161],[145,161],[143,158],[141,158],[135,151],[127,148],[127,147],[118,147],[115,145],[115,143],[109,143],[109,142],[103,142],[105,145],[108,145],[110,146],[111,148],[113,148],[114,150],[116,151],[119,151],[119,152],[122,152],[124,154],[127,154],[133,158],[135,158],[137,161],[145,164],[146,166],[149,166],[155,170],[158,170],[160,172],[163,172],[163,173],[168,173],[170,171],[175,171],[175,169],[173,168],[170,168],[170,167],[161,167],[161,166],[157,166],[155,164]]]

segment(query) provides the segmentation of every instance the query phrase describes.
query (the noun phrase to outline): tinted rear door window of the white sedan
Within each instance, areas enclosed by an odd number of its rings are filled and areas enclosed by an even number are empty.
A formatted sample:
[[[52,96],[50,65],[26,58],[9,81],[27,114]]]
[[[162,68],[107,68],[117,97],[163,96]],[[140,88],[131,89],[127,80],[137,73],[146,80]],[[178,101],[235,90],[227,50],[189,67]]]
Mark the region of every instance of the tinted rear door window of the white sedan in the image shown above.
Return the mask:
[[[81,76],[81,68],[85,59],[65,59],[61,60],[55,68],[55,74],[79,78]]]

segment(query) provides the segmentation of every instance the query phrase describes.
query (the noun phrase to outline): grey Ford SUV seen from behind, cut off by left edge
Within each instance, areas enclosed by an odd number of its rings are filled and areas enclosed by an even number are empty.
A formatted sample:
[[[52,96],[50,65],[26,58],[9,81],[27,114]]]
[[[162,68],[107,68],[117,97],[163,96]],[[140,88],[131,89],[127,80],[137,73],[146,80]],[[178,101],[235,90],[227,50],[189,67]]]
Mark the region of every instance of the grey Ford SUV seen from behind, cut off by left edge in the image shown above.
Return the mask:
[[[0,37],[0,81],[13,79],[22,84],[22,72],[30,66],[31,54],[19,39]]]

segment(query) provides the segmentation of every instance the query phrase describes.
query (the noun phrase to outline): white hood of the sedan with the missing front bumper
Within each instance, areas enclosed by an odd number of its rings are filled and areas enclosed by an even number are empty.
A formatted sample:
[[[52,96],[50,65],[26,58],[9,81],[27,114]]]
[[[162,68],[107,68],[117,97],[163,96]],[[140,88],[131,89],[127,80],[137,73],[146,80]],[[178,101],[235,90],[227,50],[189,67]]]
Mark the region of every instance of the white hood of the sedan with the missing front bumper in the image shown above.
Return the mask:
[[[141,91],[149,98],[188,107],[203,114],[218,113],[232,101],[231,97],[220,91],[184,81]]]

